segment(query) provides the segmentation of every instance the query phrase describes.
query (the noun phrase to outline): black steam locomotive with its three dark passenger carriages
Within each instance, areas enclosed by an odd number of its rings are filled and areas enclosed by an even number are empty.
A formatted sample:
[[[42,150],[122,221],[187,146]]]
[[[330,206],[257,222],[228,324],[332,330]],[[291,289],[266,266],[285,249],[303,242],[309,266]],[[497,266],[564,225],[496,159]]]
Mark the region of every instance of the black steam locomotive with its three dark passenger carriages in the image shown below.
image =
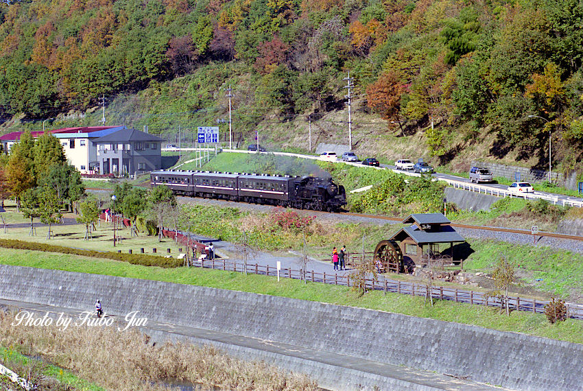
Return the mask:
[[[314,211],[346,205],[343,186],[331,178],[239,174],[210,171],[152,171],[150,185],[167,186],[177,195],[218,198]]]

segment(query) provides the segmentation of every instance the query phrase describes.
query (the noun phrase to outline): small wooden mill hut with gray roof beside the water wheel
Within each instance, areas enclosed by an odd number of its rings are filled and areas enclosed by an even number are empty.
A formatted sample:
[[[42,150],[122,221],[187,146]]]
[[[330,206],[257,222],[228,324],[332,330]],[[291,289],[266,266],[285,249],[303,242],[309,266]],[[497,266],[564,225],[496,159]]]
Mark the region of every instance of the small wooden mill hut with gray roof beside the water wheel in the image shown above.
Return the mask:
[[[389,239],[401,248],[405,264],[413,261],[420,265],[428,255],[444,255],[453,260],[453,244],[466,241],[442,213],[414,213],[403,220],[403,224],[410,223]]]

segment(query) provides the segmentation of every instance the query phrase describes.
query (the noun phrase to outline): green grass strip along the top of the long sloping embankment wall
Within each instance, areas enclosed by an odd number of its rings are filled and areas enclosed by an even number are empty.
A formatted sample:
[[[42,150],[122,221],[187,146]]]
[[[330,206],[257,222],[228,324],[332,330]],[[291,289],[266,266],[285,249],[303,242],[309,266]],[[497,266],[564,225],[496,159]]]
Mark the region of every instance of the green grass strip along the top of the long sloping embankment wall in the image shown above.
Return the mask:
[[[429,304],[424,305],[421,297],[399,294],[385,295],[383,292],[368,292],[364,296],[358,296],[348,287],[322,283],[305,284],[302,281],[291,279],[282,279],[278,283],[277,278],[272,276],[255,274],[245,276],[242,273],[202,268],[147,268],[104,259],[87,259],[67,254],[12,249],[2,250],[0,263],[270,294],[322,303],[404,313],[409,316],[433,318],[449,322],[475,324],[476,326],[501,331],[514,331],[556,340],[583,343],[583,322],[581,321],[567,320],[559,324],[549,324],[545,316],[541,314],[514,311],[510,317],[507,317],[501,315],[496,309],[439,300],[431,307]]]

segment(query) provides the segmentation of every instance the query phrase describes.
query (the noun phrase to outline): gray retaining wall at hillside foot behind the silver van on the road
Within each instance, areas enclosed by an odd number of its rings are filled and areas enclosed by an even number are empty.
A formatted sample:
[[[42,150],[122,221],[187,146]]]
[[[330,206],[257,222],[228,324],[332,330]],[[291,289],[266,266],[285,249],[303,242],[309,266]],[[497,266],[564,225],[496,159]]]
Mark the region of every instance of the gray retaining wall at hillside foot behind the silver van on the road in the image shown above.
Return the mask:
[[[527,182],[548,182],[549,171],[541,169],[530,169],[526,167],[519,167],[514,165],[501,165],[497,163],[482,163],[479,161],[472,161],[473,166],[486,167],[492,171],[495,177],[501,176],[510,180],[515,180],[516,173],[520,174],[520,180]],[[551,171],[551,180],[557,185],[567,187],[567,189],[577,190],[577,174],[565,176],[562,173]]]

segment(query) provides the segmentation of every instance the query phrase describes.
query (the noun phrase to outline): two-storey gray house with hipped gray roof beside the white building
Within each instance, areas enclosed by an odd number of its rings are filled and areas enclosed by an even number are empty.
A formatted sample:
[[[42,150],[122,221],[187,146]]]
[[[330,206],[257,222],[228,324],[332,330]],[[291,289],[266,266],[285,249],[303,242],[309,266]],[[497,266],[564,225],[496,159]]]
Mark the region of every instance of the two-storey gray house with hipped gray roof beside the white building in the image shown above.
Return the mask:
[[[99,174],[134,174],[162,168],[163,139],[135,129],[112,132],[93,143]]]

